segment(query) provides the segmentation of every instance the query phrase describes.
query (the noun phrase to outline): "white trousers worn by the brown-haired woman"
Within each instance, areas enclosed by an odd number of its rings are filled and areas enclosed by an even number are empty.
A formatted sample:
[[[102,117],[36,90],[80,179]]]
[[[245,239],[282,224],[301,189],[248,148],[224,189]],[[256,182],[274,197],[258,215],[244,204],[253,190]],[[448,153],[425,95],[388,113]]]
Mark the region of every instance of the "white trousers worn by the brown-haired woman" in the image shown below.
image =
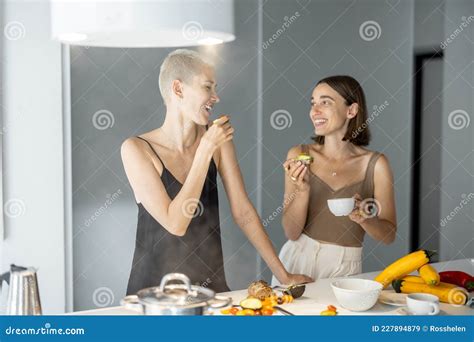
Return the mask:
[[[362,272],[362,247],[321,243],[306,234],[301,234],[296,241],[288,240],[279,257],[288,272],[304,274],[314,280]],[[272,285],[280,285],[275,277]]]

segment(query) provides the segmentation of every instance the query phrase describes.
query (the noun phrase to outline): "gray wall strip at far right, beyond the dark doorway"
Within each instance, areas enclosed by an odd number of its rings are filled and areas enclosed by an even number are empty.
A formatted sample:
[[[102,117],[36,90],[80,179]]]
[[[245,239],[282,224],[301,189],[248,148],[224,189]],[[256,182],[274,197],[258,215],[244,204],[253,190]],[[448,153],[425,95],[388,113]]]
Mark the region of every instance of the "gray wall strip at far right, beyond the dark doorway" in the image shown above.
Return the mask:
[[[470,24],[462,26],[467,18]],[[455,36],[444,49],[444,88],[440,94],[443,148],[439,229],[441,259],[451,260],[474,257],[473,1],[446,2],[444,32],[445,40]]]

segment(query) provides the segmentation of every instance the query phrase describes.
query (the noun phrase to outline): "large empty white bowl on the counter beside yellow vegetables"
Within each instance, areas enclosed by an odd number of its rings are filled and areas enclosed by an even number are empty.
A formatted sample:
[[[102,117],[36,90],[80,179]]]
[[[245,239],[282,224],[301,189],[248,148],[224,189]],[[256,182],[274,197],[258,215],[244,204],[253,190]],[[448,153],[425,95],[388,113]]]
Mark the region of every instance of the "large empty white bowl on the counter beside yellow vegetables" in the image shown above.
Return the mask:
[[[331,283],[339,304],[351,311],[367,311],[375,305],[383,286],[377,281],[348,278]]]

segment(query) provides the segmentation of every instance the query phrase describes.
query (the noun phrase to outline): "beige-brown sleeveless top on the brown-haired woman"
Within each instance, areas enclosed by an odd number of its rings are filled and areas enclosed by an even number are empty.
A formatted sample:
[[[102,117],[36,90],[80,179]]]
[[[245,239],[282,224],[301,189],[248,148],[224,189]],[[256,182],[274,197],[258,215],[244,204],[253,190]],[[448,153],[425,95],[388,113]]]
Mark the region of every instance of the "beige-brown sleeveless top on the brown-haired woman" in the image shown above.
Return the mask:
[[[308,153],[308,145],[301,145],[302,151]],[[329,242],[346,247],[361,247],[364,241],[364,229],[348,216],[334,216],[328,208],[327,200],[331,198],[352,197],[355,193],[363,199],[374,197],[374,168],[379,152],[370,157],[365,178],[338,190],[333,190],[316,174],[310,176],[310,197],[308,214],[303,233],[315,240]]]

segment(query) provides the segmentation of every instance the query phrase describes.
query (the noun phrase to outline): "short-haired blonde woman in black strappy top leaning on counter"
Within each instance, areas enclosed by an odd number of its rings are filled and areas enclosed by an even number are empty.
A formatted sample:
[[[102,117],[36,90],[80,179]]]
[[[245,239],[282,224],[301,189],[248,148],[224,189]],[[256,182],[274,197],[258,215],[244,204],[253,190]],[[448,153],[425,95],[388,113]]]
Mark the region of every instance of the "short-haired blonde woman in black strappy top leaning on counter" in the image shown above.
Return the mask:
[[[228,118],[212,124],[219,102],[214,68],[191,50],[170,53],[160,69],[166,105],[163,125],[122,145],[122,160],[138,205],[127,294],[156,286],[171,272],[217,292],[224,274],[217,175],[234,220],[283,283],[310,281],[288,273],[278,259],[245,191]]]

